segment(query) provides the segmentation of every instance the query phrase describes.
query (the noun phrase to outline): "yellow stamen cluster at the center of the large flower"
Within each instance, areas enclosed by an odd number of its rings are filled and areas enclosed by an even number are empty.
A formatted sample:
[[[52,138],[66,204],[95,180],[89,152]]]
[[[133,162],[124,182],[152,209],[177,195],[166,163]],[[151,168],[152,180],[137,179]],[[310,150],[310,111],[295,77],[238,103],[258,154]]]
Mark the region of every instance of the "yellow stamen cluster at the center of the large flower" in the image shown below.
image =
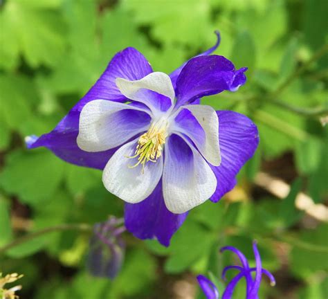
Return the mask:
[[[145,163],[151,161],[155,163],[162,155],[163,145],[167,137],[167,119],[161,118],[157,122],[152,123],[149,130],[140,136],[136,152],[134,156],[127,156],[127,158],[138,157],[138,162],[129,166],[130,168],[136,167],[139,164],[143,165],[142,172],[145,169]]]

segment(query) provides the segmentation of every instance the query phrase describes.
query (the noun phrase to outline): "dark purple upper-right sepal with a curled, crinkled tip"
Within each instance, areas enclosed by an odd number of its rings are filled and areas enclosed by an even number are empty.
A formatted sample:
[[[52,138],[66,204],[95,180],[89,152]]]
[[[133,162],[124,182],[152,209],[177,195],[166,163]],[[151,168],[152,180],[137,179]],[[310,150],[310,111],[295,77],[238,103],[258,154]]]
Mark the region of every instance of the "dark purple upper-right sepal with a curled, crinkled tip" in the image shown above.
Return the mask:
[[[236,91],[246,82],[246,70],[236,70],[233,62],[220,55],[192,58],[176,80],[176,107],[221,91]]]

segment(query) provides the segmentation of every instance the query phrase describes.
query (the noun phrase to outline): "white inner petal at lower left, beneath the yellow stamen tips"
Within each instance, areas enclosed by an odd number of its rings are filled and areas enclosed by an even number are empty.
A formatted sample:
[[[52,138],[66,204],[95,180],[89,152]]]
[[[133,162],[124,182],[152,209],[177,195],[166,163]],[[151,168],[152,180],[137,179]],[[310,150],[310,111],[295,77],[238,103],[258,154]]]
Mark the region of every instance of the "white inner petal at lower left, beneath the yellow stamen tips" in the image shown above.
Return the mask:
[[[137,140],[120,147],[102,172],[105,188],[128,203],[138,203],[152,194],[163,173],[162,157],[156,163],[147,162],[143,173],[141,165],[129,168],[137,162],[137,158],[127,158],[134,156],[136,144]]]

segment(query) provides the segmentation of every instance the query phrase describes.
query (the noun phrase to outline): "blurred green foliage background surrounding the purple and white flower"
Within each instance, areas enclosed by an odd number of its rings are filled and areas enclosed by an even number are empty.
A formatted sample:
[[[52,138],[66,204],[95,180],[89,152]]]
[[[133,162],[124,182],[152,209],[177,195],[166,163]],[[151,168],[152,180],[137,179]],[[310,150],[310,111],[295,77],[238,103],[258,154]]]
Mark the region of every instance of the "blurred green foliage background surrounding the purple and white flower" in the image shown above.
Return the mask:
[[[246,197],[195,208],[169,248],[127,234],[113,282],[86,273],[87,233],[49,233],[6,251],[0,270],[24,273],[22,298],[180,298],[176,281],[208,271],[222,290],[216,277],[230,255],[219,246],[252,260],[254,238],[277,278],[260,298],[327,298],[327,224],[294,205],[300,190],[327,203],[328,132],[319,121],[328,109],[327,15],[326,0],[0,1],[0,246],[24,230],[122,217],[123,203],[104,190],[99,171],[24,147],[24,136],[53,129],[122,48],[134,46],[155,71],[170,73],[220,30],[216,54],[248,66],[248,82],[203,103],[248,115],[261,138],[239,175]],[[295,179],[284,201],[256,188],[259,170]]]

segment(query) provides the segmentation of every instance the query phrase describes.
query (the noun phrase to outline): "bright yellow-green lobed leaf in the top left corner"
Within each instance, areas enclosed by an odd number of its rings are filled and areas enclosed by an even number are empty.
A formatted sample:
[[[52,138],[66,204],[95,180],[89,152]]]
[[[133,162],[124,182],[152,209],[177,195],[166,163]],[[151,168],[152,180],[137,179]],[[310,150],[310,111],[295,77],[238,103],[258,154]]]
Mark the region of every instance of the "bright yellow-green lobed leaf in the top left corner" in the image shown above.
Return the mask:
[[[41,64],[55,66],[64,53],[64,23],[60,15],[36,3],[35,0],[8,0],[0,12],[3,33],[0,65],[6,69],[17,66],[20,54],[35,68]]]

